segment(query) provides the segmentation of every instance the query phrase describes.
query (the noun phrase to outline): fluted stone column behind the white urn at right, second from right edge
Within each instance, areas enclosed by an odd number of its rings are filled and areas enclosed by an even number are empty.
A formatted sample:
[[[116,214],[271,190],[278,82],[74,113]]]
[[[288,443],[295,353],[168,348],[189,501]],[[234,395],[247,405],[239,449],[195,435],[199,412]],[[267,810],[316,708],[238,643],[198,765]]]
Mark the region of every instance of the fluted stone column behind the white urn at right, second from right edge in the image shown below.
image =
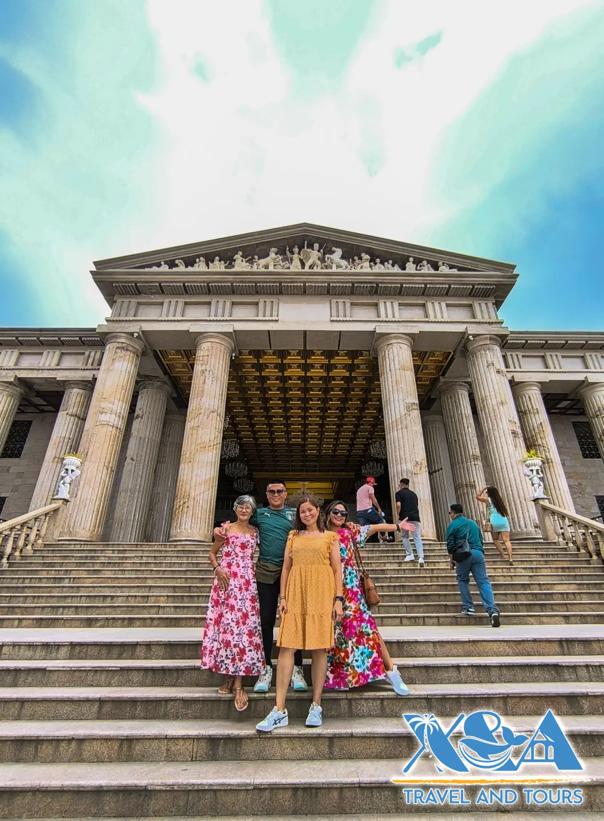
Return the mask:
[[[533,448],[543,461],[546,494],[551,503],[574,513],[574,502],[566,481],[556,439],[551,432],[546,406],[543,404],[541,384],[516,382],[512,385],[520,427],[527,448]],[[534,507],[534,506],[533,506]]]

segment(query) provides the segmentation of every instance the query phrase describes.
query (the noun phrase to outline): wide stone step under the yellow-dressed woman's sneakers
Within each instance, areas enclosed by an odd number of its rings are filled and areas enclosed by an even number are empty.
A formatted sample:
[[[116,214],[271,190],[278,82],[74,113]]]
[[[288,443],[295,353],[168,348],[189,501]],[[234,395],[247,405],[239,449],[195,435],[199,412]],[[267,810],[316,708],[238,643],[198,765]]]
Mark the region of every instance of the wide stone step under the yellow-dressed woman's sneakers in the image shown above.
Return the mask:
[[[234,712],[234,707],[233,707]],[[542,716],[505,716],[514,732],[532,735]],[[445,722],[445,727],[446,727]],[[604,717],[565,716],[565,735],[579,758],[604,756]],[[461,736],[454,730],[451,737]],[[0,721],[2,762],[256,761],[411,759],[417,737],[404,718],[330,718],[305,727],[292,718],[270,736],[252,718],[191,721]]]

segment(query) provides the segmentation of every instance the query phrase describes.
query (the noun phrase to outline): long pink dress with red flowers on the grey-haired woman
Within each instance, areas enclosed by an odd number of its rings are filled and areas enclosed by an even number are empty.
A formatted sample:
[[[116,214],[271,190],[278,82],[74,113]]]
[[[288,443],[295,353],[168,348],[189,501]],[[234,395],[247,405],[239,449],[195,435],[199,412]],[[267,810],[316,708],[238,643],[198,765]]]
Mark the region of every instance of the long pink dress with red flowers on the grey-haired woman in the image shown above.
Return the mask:
[[[210,592],[205,616],[201,667],[228,676],[257,676],[265,668],[258,589],[253,556],[256,534],[229,533],[220,566],[228,573],[228,588],[218,579]]]

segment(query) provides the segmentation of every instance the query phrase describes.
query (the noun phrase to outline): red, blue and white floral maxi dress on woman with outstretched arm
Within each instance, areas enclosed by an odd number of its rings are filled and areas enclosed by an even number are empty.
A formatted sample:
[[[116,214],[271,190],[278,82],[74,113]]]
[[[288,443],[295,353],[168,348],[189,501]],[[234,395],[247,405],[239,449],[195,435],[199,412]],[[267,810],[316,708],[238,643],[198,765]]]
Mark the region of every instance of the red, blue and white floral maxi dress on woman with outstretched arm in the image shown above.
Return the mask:
[[[369,526],[338,531],[344,615],[341,628],[336,631],[335,646],[327,655],[325,687],[360,687],[383,678],[384,662],[376,621],[371,616],[354,561],[354,544],[362,547]]]

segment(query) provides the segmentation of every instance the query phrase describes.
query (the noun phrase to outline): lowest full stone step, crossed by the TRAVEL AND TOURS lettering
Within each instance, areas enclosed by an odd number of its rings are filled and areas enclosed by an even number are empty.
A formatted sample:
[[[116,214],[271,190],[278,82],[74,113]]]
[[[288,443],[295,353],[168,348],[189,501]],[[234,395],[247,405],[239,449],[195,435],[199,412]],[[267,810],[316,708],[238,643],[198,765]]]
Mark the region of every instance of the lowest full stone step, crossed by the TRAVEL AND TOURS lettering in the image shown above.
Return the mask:
[[[402,769],[399,759],[340,759],[329,767],[301,759],[242,761],[237,768],[230,761],[6,764],[0,772],[0,815],[5,819],[44,815],[140,819],[143,815],[165,818],[168,812],[265,818],[311,814],[318,808],[333,816],[345,807],[348,813],[367,818],[365,813],[377,807],[386,813],[422,812],[426,808],[407,805],[402,787],[393,783],[393,778],[402,777]],[[556,777],[558,770],[549,765],[550,773]],[[413,777],[424,784],[436,774],[429,760],[421,759],[413,768]],[[586,759],[570,784],[583,790],[581,810],[602,810],[603,785],[604,760]],[[518,787],[516,809],[526,806],[524,786]],[[560,785],[551,787],[552,797],[560,798]],[[466,798],[475,801],[479,789],[466,787]]]

